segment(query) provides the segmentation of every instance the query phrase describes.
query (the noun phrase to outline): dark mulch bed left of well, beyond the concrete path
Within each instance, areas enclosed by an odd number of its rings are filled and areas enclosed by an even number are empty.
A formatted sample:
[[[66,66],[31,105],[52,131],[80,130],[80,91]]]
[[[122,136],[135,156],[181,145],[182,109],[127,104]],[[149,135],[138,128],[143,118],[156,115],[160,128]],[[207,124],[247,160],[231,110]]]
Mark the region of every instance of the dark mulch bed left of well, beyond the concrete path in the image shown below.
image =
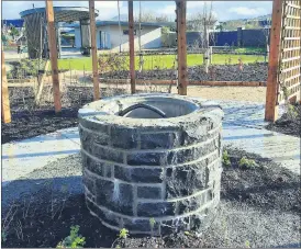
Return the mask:
[[[2,123],[2,144],[52,133],[78,124],[79,105],[67,106],[58,114],[55,113],[51,104],[34,106],[32,88],[10,88],[10,104],[12,118],[11,123]]]

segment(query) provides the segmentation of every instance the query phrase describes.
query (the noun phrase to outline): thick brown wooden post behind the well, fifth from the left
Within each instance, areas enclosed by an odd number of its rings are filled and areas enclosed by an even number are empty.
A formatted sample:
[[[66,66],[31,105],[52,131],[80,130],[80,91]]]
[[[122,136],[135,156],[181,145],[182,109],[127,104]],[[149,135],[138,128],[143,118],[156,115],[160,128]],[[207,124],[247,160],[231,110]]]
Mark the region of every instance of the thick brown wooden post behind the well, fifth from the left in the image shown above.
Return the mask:
[[[186,44],[186,1],[176,1],[178,30],[178,93],[187,95],[187,44]]]

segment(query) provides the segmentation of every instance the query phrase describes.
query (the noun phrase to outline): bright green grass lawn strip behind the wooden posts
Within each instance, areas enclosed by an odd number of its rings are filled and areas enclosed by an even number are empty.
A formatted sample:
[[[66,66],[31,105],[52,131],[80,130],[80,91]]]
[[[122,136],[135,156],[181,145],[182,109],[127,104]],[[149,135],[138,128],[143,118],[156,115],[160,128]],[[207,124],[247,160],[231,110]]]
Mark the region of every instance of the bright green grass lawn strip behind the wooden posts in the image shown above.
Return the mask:
[[[212,63],[214,65],[225,65],[225,64],[237,64],[238,58],[242,58],[244,64],[264,61],[264,56],[255,55],[224,55],[224,54],[214,54]],[[144,56],[144,69],[152,70],[155,67],[158,68],[172,68],[175,60],[175,55],[147,55]],[[138,56],[135,58],[136,68],[138,68]],[[129,64],[129,60],[127,60]],[[187,55],[188,66],[197,66],[203,64],[203,55],[200,54],[189,54]],[[92,70],[92,59],[91,57],[82,58],[70,58],[70,59],[59,59],[58,60],[59,69],[69,69],[73,70]]]

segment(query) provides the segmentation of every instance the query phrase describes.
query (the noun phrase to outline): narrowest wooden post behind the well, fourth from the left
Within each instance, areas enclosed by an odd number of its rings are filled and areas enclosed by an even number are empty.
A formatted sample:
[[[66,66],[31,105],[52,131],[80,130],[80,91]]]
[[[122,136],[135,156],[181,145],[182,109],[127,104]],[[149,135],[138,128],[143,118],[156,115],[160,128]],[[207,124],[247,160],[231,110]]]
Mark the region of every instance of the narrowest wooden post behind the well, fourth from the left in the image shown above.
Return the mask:
[[[131,92],[136,92],[135,82],[135,44],[134,44],[134,11],[133,1],[129,0],[129,45],[130,45],[130,76],[131,76]]]

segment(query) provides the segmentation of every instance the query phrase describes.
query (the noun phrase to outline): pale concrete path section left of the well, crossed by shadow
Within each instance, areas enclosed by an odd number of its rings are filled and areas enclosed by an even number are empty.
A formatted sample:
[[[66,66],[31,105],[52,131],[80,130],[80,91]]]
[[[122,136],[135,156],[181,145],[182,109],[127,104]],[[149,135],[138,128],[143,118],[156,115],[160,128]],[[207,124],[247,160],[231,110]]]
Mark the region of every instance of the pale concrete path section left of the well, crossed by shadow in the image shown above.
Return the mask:
[[[2,145],[2,185],[43,168],[58,158],[77,154],[79,144],[60,132]]]

